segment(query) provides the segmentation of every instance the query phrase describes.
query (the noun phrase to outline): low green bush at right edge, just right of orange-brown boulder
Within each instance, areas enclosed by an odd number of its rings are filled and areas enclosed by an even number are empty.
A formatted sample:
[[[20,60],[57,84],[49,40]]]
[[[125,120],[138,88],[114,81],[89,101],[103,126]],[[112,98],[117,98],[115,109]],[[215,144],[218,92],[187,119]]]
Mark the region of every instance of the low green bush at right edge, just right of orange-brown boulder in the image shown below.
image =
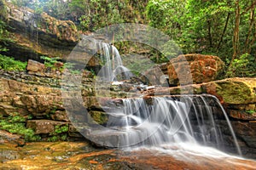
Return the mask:
[[[226,77],[256,77],[256,59],[254,56],[242,54],[234,59],[228,68]]]

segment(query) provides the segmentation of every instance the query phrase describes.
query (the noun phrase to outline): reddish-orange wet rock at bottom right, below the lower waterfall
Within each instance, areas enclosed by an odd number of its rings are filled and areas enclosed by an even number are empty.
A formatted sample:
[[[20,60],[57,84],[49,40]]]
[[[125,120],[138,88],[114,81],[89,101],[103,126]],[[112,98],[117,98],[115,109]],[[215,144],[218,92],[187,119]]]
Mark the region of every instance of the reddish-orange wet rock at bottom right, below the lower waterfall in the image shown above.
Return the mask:
[[[175,150],[175,149],[174,149]],[[175,152],[174,152],[175,153]],[[139,150],[123,156],[130,163],[141,163],[150,169],[254,169],[255,161],[242,160],[232,157],[208,157],[190,154],[168,155],[157,150]],[[180,157],[181,156],[181,157]]]

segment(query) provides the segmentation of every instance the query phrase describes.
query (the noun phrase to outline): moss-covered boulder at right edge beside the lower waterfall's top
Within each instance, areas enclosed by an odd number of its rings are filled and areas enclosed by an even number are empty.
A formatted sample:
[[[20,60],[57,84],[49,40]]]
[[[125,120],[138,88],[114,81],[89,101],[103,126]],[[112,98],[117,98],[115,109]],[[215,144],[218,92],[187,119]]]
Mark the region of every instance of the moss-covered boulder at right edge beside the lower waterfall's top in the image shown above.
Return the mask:
[[[202,88],[220,100],[230,117],[256,120],[256,78],[229,78],[208,82]]]

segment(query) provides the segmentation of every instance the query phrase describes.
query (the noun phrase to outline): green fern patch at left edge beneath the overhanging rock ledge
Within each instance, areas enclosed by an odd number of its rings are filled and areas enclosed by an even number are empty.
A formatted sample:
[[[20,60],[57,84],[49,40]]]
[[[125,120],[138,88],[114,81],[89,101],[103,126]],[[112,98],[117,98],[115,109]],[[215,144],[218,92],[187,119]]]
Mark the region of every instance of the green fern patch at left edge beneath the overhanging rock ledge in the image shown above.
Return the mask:
[[[26,65],[26,62],[21,62],[15,60],[14,58],[0,54],[0,69],[5,71],[25,71]]]

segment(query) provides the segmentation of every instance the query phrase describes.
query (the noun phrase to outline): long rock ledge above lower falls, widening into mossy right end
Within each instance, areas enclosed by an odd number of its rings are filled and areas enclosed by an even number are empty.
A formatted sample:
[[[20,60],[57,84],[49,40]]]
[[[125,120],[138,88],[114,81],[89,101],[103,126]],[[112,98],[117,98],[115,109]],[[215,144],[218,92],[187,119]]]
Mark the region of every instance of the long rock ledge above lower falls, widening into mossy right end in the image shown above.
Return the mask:
[[[250,114],[244,120],[253,119],[256,104],[256,78],[227,78],[224,80],[204,82],[201,84],[184,85],[173,88],[155,88],[144,92],[145,95],[176,95],[176,94],[212,94],[220,103],[236,117],[236,111]],[[248,118],[251,117],[251,118]],[[237,116],[239,119],[239,116]]]

